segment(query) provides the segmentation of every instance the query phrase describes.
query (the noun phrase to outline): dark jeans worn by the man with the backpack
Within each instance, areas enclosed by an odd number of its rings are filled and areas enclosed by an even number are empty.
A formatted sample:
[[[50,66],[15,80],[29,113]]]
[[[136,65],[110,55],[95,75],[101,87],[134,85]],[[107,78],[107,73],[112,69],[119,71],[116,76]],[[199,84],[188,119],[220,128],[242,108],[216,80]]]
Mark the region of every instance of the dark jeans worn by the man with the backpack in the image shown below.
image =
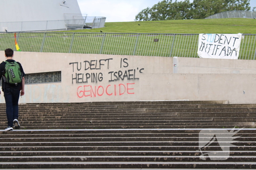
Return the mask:
[[[8,120],[8,126],[13,126],[13,120],[19,118],[19,94],[18,88],[5,88],[4,99],[6,104],[6,115]]]

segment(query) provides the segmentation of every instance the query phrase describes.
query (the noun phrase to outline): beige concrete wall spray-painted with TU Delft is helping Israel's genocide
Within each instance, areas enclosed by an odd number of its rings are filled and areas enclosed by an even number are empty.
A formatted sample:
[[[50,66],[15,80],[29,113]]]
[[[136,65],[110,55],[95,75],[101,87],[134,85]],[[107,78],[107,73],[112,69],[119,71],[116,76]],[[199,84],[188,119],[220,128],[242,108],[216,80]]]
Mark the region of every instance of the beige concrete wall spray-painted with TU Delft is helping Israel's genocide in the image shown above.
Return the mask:
[[[4,52],[0,51],[2,60]],[[253,60],[15,52],[26,74],[61,71],[61,83],[26,84],[20,103],[229,100],[256,103]],[[236,73],[236,74],[233,74]],[[0,102],[4,103],[1,95]]]

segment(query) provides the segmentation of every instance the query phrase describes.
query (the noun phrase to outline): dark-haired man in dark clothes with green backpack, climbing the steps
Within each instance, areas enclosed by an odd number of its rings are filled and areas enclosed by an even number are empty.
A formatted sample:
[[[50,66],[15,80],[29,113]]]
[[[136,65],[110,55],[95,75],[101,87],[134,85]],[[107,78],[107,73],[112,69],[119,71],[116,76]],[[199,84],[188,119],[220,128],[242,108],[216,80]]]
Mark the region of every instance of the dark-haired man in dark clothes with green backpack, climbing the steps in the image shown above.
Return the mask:
[[[18,102],[19,102],[19,96],[23,96],[25,94],[25,73],[23,71],[23,68],[19,62],[15,62],[13,59],[14,51],[10,48],[7,48],[5,51],[5,58],[6,61],[2,62],[0,64],[0,78],[2,78],[2,90],[4,92],[4,99],[6,104],[6,115],[7,115],[7,121],[8,121],[8,127],[5,129],[5,131],[13,130],[12,126],[15,125],[15,129],[20,128],[20,124],[18,121],[19,118],[19,108],[18,108]],[[16,65],[16,68],[18,70],[18,73],[20,74],[20,82],[19,83],[12,83],[12,81],[9,81],[9,75],[5,74],[5,71],[7,71],[7,65],[6,64],[12,64]],[[17,65],[18,63],[18,65]],[[11,70],[11,71],[10,71]],[[14,72],[12,72],[15,70]],[[15,74],[16,69],[9,69],[9,72],[11,74]],[[7,77],[6,77],[7,75]],[[15,75],[17,77],[17,75]],[[14,77],[15,77],[14,76]],[[15,82],[15,81],[13,81]],[[1,91],[0,91],[1,94]]]

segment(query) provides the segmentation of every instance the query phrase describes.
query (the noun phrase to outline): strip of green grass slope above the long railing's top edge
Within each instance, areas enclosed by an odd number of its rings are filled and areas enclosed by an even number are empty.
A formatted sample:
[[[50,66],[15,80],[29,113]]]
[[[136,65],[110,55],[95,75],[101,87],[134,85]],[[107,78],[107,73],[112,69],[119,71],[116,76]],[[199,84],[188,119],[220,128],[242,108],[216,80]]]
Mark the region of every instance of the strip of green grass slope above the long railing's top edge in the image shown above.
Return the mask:
[[[140,25],[138,25],[140,24]],[[104,28],[65,32],[111,33],[249,33],[256,34],[256,19],[200,19],[105,23]],[[63,32],[63,31],[62,31]]]

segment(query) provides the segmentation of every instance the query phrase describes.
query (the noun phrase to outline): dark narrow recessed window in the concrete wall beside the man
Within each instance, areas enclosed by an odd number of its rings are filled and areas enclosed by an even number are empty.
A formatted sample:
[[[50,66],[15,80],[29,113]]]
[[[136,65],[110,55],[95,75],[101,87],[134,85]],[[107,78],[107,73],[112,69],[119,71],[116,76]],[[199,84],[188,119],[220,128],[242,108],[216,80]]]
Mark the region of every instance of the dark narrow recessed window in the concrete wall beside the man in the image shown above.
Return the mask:
[[[61,82],[61,71],[26,74],[25,84]]]

